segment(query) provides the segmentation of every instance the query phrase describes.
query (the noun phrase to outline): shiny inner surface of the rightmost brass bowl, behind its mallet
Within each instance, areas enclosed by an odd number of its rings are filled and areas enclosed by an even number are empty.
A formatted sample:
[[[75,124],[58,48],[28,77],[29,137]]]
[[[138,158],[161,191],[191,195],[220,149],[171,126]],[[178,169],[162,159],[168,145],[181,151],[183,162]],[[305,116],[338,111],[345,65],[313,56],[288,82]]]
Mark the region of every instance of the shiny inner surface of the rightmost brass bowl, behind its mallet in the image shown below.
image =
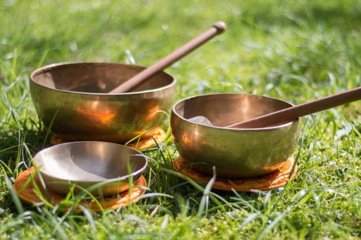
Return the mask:
[[[225,127],[291,106],[285,101],[259,95],[212,94],[179,101],[173,110],[183,119],[203,116],[213,125]]]

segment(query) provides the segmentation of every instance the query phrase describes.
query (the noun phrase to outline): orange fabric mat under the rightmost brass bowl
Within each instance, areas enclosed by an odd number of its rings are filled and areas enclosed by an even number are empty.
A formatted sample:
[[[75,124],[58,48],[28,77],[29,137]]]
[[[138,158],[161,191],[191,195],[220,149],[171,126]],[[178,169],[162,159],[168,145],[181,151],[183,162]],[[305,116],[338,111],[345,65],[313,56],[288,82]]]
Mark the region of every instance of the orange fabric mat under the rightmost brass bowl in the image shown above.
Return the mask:
[[[173,160],[173,169],[188,176],[188,178],[195,180],[195,182],[199,184],[208,183],[212,178],[212,176],[191,169],[189,161],[181,156]],[[237,192],[266,191],[276,187],[285,186],[287,180],[292,180],[294,176],[296,176],[296,173],[296,160],[291,156],[285,161],[280,169],[265,176],[237,180],[217,178],[212,185],[212,189],[223,191],[232,191],[232,189],[234,189]]]

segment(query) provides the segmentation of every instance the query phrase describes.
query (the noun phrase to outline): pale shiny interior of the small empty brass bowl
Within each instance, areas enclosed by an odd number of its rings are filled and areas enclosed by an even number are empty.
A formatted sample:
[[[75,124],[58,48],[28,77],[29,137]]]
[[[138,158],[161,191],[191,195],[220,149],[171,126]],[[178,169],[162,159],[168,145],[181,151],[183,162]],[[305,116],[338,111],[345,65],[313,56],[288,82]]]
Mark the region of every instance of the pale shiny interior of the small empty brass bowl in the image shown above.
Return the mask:
[[[122,180],[140,175],[146,167],[145,156],[137,150],[106,142],[55,145],[36,154],[34,161],[41,173],[72,182]]]

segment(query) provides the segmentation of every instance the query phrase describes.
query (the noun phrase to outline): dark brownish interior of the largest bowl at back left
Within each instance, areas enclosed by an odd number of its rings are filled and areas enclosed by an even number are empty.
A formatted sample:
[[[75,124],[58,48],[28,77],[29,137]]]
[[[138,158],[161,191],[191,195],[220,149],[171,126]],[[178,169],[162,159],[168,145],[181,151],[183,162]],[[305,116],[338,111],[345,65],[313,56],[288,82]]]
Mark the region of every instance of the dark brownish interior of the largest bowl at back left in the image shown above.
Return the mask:
[[[116,63],[65,63],[35,71],[32,80],[41,86],[61,91],[109,93],[143,69],[140,66]],[[161,72],[131,92],[162,88],[174,81],[171,75]]]

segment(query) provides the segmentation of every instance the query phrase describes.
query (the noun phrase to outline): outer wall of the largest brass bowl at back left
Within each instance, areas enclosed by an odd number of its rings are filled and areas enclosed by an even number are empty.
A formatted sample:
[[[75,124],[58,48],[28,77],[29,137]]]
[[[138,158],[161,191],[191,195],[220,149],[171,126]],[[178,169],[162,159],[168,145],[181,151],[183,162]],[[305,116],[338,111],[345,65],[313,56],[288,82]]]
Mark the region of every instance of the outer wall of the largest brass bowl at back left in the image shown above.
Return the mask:
[[[173,77],[171,84],[159,90],[111,95],[58,91],[30,80],[30,93],[36,112],[52,132],[79,140],[125,143],[164,124],[167,117],[162,111],[171,109],[175,82]]]

